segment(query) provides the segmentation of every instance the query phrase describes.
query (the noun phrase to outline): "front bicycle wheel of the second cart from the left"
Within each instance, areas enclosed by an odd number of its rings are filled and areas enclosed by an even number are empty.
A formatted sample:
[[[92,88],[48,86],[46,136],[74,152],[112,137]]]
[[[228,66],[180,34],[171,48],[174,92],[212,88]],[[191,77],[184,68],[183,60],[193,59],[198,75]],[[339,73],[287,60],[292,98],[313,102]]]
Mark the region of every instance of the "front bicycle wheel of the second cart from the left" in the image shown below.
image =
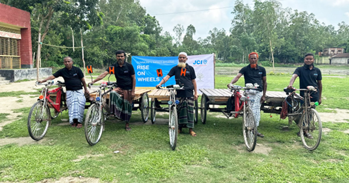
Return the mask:
[[[101,116],[99,116],[101,115]],[[85,137],[87,142],[92,146],[101,139],[104,128],[104,114],[99,110],[97,104],[92,104],[86,113],[85,118]]]

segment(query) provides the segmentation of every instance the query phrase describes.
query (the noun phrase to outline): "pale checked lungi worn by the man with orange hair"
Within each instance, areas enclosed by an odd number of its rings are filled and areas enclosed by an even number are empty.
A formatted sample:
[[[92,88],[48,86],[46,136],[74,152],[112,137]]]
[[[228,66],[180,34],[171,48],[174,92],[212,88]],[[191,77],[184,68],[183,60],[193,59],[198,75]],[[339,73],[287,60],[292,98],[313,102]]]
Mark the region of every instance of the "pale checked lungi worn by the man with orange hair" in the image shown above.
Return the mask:
[[[263,92],[258,90],[246,90],[247,96],[249,97],[248,105],[250,105],[253,113],[254,121],[259,126],[259,120],[261,118],[261,98]]]

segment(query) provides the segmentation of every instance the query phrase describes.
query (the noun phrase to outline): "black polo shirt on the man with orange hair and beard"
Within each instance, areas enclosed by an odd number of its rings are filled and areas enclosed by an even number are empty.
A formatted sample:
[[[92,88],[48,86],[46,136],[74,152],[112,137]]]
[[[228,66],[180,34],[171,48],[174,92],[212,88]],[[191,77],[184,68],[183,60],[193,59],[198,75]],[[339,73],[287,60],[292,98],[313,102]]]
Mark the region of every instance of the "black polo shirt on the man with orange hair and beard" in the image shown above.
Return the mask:
[[[262,77],[267,75],[264,67],[261,67],[257,64],[257,69],[256,69],[256,68],[251,68],[251,65],[248,64],[248,66],[243,67],[239,71],[239,73],[244,75],[245,85],[247,83],[252,83],[252,84],[257,83],[259,85],[257,90],[263,91]]]

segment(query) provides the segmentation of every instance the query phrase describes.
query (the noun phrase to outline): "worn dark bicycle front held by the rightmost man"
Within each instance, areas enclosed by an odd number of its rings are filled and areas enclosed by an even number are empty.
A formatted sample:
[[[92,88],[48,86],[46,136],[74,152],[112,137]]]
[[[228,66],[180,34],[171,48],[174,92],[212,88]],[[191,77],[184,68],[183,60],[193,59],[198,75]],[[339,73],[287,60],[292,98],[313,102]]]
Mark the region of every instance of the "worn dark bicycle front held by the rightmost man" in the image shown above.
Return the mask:
[[[296,95],[296,91],[304,91],[304,97]],[[293,118],[299,118],[300,115],[297,125],[302,143],[307,150],[315,150],[321,141],[322,123],[319,113],[314,108],[316,102],[311,102],[310,95],[317,92],[317,89],[314,86],[307,86],[307,89],[284,88],[284,92],[288,96],[283,102],[283,110],[287,110],[287,116],[291,122]],[[300,101],[303,101],[303,104],[300,104]],[[312,135],[309,135],[310,132]]]

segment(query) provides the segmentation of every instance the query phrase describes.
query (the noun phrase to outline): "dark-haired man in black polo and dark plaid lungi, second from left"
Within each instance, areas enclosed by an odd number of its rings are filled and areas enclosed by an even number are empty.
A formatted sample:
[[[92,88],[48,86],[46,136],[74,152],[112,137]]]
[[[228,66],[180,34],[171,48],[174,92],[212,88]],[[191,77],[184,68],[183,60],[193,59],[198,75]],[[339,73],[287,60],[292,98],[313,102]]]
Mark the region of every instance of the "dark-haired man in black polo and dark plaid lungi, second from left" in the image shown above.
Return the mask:
[[[110,92],[111,113],[126,122],[125,130],[129,131],[129,120],[132,114],[132,102],[135,96],[136,76],[132,64],[125,62],[126,53],[122,50],[116,52],[117,63],[113,64],[117,88]],[[109,74],[109,68],[99,75],[92,84],[103,79]]]

